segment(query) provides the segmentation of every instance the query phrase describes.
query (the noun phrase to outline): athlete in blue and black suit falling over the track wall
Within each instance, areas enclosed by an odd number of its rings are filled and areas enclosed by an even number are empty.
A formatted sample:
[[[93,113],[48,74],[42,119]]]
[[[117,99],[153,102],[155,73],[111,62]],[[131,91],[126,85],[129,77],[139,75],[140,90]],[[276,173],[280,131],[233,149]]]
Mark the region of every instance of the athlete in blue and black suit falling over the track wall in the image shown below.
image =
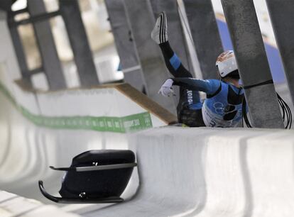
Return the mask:
[[[158,43],[166,67],[174,78],[167,79],[159,92],[163,96],[173,94],[173,85],[180,86],[177,107],[178,121],[187,126],[236,127],[242,119],[244,90],[239,85],[239,71],[232,50],[217,58],[220,79],[193,79],[168,43],[168,25],[165,12],[160,13],[151,38]],[[207,94],[202,103],[199,91]]]

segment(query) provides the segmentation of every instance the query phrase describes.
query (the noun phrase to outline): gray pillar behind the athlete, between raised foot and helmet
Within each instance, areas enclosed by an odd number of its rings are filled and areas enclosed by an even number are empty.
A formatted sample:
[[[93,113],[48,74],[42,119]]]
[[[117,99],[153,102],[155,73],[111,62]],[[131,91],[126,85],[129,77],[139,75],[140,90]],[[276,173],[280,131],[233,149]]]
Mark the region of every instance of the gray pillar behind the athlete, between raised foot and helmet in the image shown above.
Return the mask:
[[[217,79],[215,62],[224,51],[211,0],[183,0],[203,79]]]

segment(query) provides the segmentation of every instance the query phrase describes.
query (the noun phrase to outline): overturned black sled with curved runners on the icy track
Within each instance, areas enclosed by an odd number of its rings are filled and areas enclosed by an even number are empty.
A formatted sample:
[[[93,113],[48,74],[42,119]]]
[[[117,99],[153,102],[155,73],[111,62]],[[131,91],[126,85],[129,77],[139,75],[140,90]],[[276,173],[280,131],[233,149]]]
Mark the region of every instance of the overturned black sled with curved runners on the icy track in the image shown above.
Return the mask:
[[[124,201],[121,194],[129,183],[134,167],[131,150],[90,150],[75,156],[70,167],[50,169],[65,171],[59,194],[45,191],[43,181],[39,188],[43,196],[56,203],[105,204]]]

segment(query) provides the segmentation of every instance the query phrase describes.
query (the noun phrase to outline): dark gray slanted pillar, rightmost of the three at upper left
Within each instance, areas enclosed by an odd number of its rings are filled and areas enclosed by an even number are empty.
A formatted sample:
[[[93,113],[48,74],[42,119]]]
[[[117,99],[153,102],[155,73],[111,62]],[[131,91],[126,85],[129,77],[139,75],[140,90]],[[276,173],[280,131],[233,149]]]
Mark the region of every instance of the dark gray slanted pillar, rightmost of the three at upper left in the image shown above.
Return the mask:
[[[80,84],[83,87],[97,85],[99,84],[99,79],[97,77],[92,51],[89,47],[85,26],[82,23],[79,4],[77,0],[60,0],[59,5],[75,57]]]

